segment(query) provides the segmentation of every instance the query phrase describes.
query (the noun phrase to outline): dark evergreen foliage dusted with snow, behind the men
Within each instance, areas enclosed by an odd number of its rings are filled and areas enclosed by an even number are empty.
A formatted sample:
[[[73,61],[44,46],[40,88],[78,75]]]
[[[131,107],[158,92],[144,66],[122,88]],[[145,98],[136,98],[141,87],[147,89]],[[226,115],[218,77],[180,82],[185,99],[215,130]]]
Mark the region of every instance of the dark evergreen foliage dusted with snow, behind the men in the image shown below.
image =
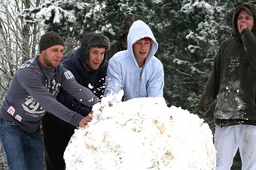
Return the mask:
[[[58,32],[66,41],[68,56],[79,46],[85,31],[102,32],[114,40],[124,16],[145,16],[159,43],[157,57],[165,69],[166,100],[169,105],[193,111],[218,46],[230,36],[227,23],[235,4],[213,0],[59,0],[24,10],[23,18],[40,23],[44,31]]]

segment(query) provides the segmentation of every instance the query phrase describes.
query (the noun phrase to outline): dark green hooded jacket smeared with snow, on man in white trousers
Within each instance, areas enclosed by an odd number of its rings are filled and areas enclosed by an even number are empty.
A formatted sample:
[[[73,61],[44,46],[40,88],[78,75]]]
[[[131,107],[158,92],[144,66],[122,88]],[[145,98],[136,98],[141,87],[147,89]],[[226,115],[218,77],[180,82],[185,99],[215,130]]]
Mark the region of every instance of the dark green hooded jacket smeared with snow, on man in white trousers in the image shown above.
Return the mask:
[[[240,6],[252,11],[255,25],[254,4]],[[256,125],[256,28],[245,28],[239,34],[239,7],[233,13],[232,37],[221,43],[198,105],[198,110],[214,112],[215,123],[220,126]]]

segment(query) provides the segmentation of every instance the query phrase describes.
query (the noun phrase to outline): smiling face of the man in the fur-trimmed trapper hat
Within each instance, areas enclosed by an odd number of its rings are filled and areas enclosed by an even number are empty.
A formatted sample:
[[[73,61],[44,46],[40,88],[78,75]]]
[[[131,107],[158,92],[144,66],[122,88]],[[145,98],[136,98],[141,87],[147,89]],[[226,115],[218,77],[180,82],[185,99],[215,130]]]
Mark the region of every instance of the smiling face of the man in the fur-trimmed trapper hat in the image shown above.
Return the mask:
[[[88,66],[92,70],[97,70],[99,65],[102,64],[105,55],[105,48],[93,47],[90,48]]]

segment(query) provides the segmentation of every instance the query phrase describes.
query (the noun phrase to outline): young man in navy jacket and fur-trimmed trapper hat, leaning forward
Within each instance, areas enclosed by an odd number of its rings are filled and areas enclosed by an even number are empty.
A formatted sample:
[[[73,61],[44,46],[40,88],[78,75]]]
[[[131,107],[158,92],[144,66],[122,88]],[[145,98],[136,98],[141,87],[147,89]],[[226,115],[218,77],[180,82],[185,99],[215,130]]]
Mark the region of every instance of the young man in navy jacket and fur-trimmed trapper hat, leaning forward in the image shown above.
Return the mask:
[[[62,61],[64,67],[73,73],[77,82],[90,88],[90,91],[99,98],[105,90],[105,75],[108,66],[105,58],[108,49],[108,37],[102,34],[87,33],[84,34],[81,47]],[[57,100],[83,116],[87,116],[91,110],[91,107],[81,104],[62,89],[59,91]],[[43,120],[43,130],[47,170],[65,169],[63,154],[75,132],[75,126],[48,113]]]

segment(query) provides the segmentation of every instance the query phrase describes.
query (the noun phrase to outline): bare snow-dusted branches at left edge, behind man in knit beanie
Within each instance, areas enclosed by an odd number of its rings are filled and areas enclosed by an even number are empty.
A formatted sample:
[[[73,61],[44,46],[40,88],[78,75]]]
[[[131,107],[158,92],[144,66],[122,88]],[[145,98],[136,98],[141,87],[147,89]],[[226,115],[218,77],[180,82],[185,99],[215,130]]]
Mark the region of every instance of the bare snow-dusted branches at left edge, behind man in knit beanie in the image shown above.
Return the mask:
[[[21,19],[20,12],[38,1],[0,1],[0,101],[2,103],[5,92],[14,76],[15,71],[23,61],[35,55],[38,42],[36,36],[37,25],[27,25]],[[35,6],[34,6],[35,7]]]

